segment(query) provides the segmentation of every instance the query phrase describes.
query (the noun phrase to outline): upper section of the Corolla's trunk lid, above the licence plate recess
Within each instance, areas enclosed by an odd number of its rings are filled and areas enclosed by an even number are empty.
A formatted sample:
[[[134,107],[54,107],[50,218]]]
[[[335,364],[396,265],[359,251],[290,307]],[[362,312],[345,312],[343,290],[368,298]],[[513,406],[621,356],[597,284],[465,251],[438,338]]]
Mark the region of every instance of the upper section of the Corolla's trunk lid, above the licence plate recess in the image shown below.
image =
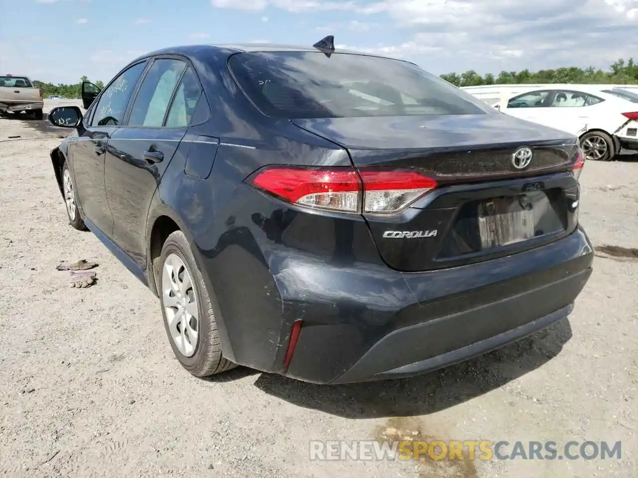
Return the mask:
[[[356,168],[419,168],[444,182],[565,171],[577,142],[565,131],[500,113],[292,122],[347,148]],[[533,150],[533,161],[523,170],[512,164],[519,147]]]

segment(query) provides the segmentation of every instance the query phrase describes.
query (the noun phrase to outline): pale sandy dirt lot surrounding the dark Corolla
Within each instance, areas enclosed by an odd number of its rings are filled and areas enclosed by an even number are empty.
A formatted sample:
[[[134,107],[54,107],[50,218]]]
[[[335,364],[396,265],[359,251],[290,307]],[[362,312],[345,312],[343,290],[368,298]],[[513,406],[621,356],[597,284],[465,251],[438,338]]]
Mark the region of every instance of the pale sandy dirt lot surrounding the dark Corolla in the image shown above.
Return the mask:
[[[64,133],[0,119],[0,475],[638,476],[638,260],[618,257],[638,247],[636,159],[582,173],[581,222],[595,245],[618,248],[597,252],[568,320],[441,372],[322,387],[241,368],[211,380],[182,370],[158,301],[67,224],[48,158]],[[100,263],[99,281],[70,289],[56,265],[80,258]],[[559,449],[621,440],[622,458],[309,461],[309,440],[406,434]]]

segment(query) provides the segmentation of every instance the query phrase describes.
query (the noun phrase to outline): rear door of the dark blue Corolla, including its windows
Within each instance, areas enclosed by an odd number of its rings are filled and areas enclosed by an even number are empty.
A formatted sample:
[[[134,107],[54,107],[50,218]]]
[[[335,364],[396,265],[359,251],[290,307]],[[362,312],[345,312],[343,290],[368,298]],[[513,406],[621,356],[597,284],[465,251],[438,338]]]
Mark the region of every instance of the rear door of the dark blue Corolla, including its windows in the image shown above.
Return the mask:
[[[197,76],[184,61],[155,59],[126,126],[117,129],[108,143],[105,180],[114,240],[142,268],[151,199],[186,134],[200,93]]]

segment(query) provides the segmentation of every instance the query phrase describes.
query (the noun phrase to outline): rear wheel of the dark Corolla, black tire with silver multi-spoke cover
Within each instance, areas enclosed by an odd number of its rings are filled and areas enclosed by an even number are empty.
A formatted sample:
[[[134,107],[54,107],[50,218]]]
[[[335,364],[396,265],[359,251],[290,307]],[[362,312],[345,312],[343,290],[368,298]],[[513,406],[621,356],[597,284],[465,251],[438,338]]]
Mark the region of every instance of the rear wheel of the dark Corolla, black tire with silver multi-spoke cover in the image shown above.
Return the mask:
[[[211,297],[182,231],[168,236],[158,266],[161,313],[175,358],[195,377],[233,368],[221,354]]]

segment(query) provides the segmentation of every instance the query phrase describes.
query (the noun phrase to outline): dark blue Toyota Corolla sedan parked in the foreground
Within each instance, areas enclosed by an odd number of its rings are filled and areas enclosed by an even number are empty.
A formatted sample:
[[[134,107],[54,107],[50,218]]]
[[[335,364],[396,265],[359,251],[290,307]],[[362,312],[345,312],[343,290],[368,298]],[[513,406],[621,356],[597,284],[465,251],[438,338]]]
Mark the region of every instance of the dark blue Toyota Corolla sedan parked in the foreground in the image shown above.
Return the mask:
[[[422,373],[567,316],[590,277],[575,136],[332,41],[167,48],[49,114],[71,226],[159,297],[193,375]]]

